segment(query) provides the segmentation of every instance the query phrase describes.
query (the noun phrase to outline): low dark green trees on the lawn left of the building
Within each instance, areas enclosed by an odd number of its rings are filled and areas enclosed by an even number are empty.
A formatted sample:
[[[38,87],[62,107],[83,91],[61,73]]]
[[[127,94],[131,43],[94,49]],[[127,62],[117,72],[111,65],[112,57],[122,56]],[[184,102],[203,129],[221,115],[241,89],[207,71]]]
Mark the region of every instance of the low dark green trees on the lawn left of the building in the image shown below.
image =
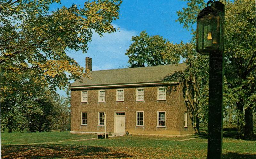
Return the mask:
[[[57,111],[61,104],[59,95],[55,91],[50,91],[46,84],[30,84],[33,87],[28,89],[26,82],[23,83],[20,90],[13,91],[15,97],[9,95],[7,97],[11,100],[2,101],[1,128],[3,131],[5,128],[8,128],[9,131],[51,131],[56,120],[54,116],[57,116],[59,120],[61,119],[58,116],[60,112]]]

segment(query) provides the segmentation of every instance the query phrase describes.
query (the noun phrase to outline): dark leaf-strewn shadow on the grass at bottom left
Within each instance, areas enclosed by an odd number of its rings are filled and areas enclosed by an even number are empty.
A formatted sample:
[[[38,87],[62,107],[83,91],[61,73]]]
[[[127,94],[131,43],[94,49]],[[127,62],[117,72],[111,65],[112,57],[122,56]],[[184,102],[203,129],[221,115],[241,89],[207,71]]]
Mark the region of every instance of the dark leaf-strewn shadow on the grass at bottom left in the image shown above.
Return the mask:
[[[73,145],[10,145],[2,146],[3,159],[51,159],[51,158],[127,158],[130,154],[117,152],[114,149],[96,146]]]

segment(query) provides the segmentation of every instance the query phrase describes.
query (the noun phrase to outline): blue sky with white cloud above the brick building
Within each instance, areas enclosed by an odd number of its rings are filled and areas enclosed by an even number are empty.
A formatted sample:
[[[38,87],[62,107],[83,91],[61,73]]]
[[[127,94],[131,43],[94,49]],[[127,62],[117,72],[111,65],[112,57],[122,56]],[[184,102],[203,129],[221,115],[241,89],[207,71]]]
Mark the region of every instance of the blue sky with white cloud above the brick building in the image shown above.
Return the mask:
[[[99,37],[93,34],[86,54],[82,51],[68,51],[81,66],[85,66],[85,57],[92,58],[92,70],[115,69],[128,67],[126,50],[132,44],[132,36],[146,30],[149,35],[160,35],[174,43],[188,42],[192,35],[179,22],[176,11],[186,6],[180,0],[123,0],[120,6],[119,19],[113,21],[119,31]],[[72,4],[83,5],[84,0],[61,0],[61,4],[52,4],[50,10],[69,7]],[[65,95],[63,90],[57,91]]]

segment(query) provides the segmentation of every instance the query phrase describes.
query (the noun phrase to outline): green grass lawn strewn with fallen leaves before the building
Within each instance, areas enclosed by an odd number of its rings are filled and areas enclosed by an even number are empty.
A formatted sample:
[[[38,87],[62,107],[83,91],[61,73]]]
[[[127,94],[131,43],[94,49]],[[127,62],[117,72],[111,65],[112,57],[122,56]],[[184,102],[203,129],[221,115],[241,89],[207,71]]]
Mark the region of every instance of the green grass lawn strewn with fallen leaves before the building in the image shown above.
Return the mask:
[[[95,135],[74,135],[69,134],[68,132],[33,133],[33,135],[37,136],[37,138],[33,137],[33,140],[36,142],[42,142],[47,139],[51,141],[60,141],[64,139],[76,140],[95,137]],[[12,134],[1,134],[1,142],[3,141],[3,137],[10,139],[10,136],[12,136]],[[31,137],[29,136],[30,133],[16,133],[15,139],[19,139],[19,143],[28,143],[27,140],[30,140]],[[40,137],[44,139],[40,139]],[[23,138],[23,140],[20,138]],[[32,143],[32,141],[29,142]],[[17,142],[2,142],[2,144],[7,143]],[[184,138],[123,136],[108,139],[66,141],[50,144],[2,145],[3,159],[205,159],[206,157],[207,139],[201,137],[195,138],[193,136]],[[256,141],[224,138],[223,159],[240,158],[256,159]]]

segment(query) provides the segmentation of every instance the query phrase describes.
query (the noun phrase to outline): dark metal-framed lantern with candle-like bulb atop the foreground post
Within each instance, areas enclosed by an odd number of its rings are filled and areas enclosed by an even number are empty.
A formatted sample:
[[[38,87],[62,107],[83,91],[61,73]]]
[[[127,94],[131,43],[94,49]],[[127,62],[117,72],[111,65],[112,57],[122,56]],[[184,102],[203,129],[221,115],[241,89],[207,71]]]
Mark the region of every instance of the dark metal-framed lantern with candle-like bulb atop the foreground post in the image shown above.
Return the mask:
[[[223,37],[224,4],[210,0],[197,16],[196,51],[203,55],[223,51]]]

